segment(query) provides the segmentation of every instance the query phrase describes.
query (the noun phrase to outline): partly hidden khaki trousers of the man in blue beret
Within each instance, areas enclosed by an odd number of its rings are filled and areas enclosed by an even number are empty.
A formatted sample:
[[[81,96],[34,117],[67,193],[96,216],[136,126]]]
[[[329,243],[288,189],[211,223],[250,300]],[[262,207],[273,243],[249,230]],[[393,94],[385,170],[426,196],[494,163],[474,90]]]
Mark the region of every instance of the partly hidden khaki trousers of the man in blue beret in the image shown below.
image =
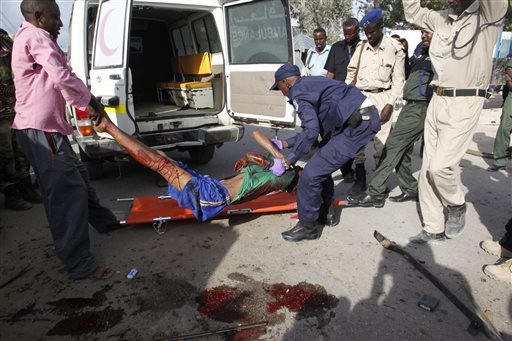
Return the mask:
[[[391,90],[379,93],[366,92],[364,90],[362,90],[362,92],[365,96],[367,96],[370,99],[370,101],[372,101],[373,105],[375,105],[375,107],[379,111],[379,114],[382,111],[382,108],[384,108],[384,106],[388,103],[389,96],[391,95]],[[380,131],[373,138],[373,147],[375,150],[373,157],[375,158],[375,165],[379,163],[380,156],[382,155],[382,150],[384,149],[386,140],[388,139],[389,133],[391,132],[392,120],[393,119],[390,118],[389,121],[387,121],[384,124],[381,124]],[[366,161],[365,149],[366,148],[363,147],[354,157],[354,163],[356,165],[364,164],[364,162]]]

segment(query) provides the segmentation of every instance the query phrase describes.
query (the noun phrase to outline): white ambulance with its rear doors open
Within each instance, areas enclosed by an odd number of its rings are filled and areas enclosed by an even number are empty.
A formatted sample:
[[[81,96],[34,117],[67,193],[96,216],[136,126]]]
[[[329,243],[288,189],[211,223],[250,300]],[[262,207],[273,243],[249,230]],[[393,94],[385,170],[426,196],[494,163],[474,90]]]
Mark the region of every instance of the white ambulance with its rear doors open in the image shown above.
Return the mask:
[[[75,0],[68,57],[112,121],[159,150],[207,163],[239,141],[243,124],[294,127],[293,108],[269,91],[293,62],[287,0]],[[91,178],[126,154],[68,107]]]

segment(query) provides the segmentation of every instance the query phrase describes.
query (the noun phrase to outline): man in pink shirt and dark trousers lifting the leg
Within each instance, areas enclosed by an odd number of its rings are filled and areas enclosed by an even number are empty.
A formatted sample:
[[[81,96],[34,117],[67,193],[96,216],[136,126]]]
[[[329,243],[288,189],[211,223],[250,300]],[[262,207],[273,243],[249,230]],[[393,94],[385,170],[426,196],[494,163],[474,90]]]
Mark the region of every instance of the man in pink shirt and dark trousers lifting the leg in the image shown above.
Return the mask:
[[[23,0],[20,8],[25,21],[12,50],[12,128],[36,173],[55,249],[70,276],[106,278],[112,272],[98,266],[89,250],[89,223],[106,232],[117,220],[100,205],[85,166],[71,148],[65,103],[92,113],[103,109],[57,45],[62,21],[55,0]]]

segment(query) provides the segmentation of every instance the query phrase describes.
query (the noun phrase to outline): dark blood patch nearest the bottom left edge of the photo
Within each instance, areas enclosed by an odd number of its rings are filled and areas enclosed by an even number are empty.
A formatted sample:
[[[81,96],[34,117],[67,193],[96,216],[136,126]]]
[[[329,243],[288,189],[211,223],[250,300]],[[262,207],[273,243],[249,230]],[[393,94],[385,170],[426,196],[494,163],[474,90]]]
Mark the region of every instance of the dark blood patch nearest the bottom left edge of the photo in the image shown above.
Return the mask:
[[[87,311],[58,322],[46,335],[82,335],[106,331],[123,319],[122,309],[107,307],[101,311]]]

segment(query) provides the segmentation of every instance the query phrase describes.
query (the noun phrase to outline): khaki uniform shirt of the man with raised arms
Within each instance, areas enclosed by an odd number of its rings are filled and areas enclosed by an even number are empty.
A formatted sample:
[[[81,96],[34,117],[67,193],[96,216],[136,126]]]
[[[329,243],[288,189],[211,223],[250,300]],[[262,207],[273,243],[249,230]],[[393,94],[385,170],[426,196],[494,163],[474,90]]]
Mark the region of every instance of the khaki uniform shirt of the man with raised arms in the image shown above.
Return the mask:
[[[507,0],[475,0],[459,17],[451,9],[423,8],[420,0],[403,0],[403,4],[408,22],[433,31],[429,50],[435,72],[432,85],[487,89]],[[475,35],[478,27],[481,31]]]

